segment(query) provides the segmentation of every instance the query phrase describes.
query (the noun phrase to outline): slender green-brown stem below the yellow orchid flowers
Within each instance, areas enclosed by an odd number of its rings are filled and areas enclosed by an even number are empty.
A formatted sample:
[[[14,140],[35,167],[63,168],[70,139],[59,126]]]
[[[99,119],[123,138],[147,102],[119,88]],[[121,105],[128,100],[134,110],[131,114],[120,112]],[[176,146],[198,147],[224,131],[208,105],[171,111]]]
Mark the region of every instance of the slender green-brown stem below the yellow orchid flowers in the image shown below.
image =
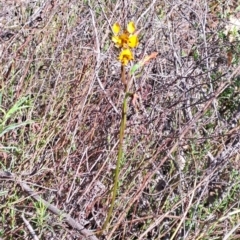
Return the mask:
[[[124,139],[124,130],[126,128],[126,122],[127,122],[127,98],[129,96],[129,93],[127,92],[127,82],[125,78],[125,68],[122,65],[121,67],[121,80],[122,83],[125,85],[125,96],[123,99],[123,105],[122,105],[122,119],[121,119],[121,125],[120,125],[120,134],[119,134],[119,148],[118,148],[118,158],[117,158],[117,164],[115,169],[115,176],[114,176],[114,185],[112,188],[112,201],[110,208],[108,210],[107,218],[103,224],[102,231],[104,231],[107,228],[108,223],[110,222],[110,218],[112,216],[113,207],[115,203],[115,199],[117,196],[118,191],[118,183],[119,183],[119,173],[120,173],[120,165],[121,160],[123,158],[123,139]]]

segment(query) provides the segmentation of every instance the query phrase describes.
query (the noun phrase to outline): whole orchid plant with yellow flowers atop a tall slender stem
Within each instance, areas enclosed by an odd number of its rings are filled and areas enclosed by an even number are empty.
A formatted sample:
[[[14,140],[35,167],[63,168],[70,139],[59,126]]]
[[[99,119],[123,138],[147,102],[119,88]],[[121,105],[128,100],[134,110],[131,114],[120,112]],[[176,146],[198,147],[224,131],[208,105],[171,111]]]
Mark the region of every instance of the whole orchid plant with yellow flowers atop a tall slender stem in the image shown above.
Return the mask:
[[[134,22],[129,22],[127,24],[126,29],[121,29],[120,24],[115,23],[112,26],[112,32],[113,32],[112,41],[115,44],[115,46],[118,49],[120,49],[118,60],[121,63],[121,81],[125,86],[125,89],[124,89],[125,96],[122,104],[122,119],[121,119],[121,125],[120,125],[120,133],[119,133],[118,158],[117,158],[115,175],[113,180],[114,181],[113,188],[111,190],[111,193],[112,193],[111,204],[110,204],[110,208],[108,210],[108,214],[103,224],[101,232],[103,232],[107,228],[110,222],[115,199],[118,192],[120,163],[123,158],[124,130],[126,128],[126,123],[127,123],[127,107],[128,107],[127,99],[128,97],[131,97],[132,102],[134,102],[134,99],[136,98],[136,93],[129,92],[131,88],[131,82],[132,82],[130,78],[137,69],[144,66],[147,62],[149,62],[149,60],[151,60],[152,58],[155,58],[157,55],[157,53],[152,53],[151,55],[144,57],[142,60],[140,60],[138,63],[132,66],[132,68],[129,71],[129,74],[126,74],[125,67],[129,64],[130,61],[134,60],[133,49],[139,45],[138,32],[136,32],[136,27]],[[126,79],[126,76],[128,79]]]

